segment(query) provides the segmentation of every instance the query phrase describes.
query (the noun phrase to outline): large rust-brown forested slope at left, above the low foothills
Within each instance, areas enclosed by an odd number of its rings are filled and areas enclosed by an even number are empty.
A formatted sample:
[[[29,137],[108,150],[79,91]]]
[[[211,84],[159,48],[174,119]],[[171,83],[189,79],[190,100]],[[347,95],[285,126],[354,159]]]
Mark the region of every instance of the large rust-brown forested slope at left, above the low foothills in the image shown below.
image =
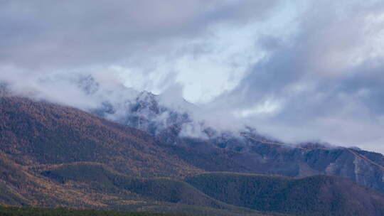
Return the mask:
[[[46,102],[1,97],[0,131],[1,151],[23,165],[92,161],[143,177],[201,171],[161,151],[142,131]]]

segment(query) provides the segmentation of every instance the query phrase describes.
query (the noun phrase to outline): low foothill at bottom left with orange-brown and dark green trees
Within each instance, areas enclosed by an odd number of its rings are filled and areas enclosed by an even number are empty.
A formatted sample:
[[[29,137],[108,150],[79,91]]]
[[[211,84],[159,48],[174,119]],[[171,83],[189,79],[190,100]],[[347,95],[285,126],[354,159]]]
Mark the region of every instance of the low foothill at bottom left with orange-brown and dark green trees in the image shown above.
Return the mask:
[[[279,215],[225,204],[179,180],[132,178],[100,163],[20,166],[6,157],[0,157],[0,205],[218,216]]]

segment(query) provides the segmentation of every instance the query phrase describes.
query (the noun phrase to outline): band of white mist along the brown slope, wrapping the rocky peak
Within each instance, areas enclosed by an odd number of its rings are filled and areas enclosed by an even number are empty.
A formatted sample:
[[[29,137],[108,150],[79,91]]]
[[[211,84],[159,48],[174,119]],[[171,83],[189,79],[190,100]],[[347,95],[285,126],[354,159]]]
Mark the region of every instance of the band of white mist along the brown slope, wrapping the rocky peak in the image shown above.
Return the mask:
[[[117,80],[100,80],[102,78],[73,73],[36,80],[30,86],[3,83],[11,95],[77,107],[152,135],[175,125],[181,127],[181,136],[201,138],[208,138],[204,132],[208,128],[238,133],[246,127],[239,119],[220,119],[220,116],[208,111],[206,107],[187,102],[181,95],[180,86],[171,87],[161,95],[154,95],[125,87]]]

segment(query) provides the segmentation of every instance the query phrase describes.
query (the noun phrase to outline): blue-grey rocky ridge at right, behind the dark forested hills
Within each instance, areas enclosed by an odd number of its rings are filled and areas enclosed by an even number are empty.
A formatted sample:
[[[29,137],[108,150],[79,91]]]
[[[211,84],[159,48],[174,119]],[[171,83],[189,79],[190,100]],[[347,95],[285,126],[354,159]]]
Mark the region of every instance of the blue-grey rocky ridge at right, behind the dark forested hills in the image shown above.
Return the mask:
[[[289,146],[242,133],[209,139],[179,137],[177,132],[159,134],[164,148],[206,171],[260,173],[302,178],[337,175],[384,193],[384,156],[380,153],[332,147]],[[172,144],[166,140],[172,139]]]

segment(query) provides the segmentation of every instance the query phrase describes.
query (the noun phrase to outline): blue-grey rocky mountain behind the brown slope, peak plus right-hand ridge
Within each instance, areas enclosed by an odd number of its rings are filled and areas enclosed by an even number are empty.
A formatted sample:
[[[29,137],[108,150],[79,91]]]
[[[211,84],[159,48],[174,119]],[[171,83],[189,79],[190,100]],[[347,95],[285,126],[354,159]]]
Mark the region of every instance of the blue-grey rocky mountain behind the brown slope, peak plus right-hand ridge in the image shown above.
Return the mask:
[[[384,193],[384,156],[380,153],[321,143],[284,144],[250,127],[218,131],[193,120],[188,109],[164,106],[160,96],[149,92],[142,92],[128,104],[126,114],[112,120],[156,136],[169,151],[198,168],[297,178],[337,175]],[[99,109],[95,114],[107,117],[106,110],[111,109]],[[182,136],[186,125],[196,124],[203,136]]]

